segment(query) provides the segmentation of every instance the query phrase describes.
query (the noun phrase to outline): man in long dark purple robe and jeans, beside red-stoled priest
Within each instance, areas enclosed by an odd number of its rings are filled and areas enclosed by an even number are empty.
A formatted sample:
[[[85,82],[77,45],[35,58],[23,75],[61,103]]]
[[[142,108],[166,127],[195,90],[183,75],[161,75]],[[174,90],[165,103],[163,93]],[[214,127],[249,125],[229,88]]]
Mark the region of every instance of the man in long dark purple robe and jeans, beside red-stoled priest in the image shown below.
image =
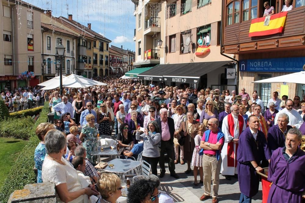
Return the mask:
[[[248,125],[249,127],[239,136],[237,149],[238,183],[241,191],[239,203],[251,202],[252,197],[257,194],[260,175],[256,171],[262,172],[260,162],[270,161],[271,157],[265,135],[258,130],[260,121],[257,116],[249,116]]]

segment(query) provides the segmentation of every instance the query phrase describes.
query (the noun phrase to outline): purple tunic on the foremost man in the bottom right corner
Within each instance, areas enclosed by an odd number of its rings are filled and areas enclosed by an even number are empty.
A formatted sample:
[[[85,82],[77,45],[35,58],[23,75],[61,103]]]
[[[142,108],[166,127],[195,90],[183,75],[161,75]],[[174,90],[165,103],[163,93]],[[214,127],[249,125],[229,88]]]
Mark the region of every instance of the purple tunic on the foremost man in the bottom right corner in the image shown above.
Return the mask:
[[[271,156],[268,180],[273,184],[267,202],[302,202],[302,193],[305,191],[305,152],[298,149],[295,156],[287,161],[282,150],[278,148]]]

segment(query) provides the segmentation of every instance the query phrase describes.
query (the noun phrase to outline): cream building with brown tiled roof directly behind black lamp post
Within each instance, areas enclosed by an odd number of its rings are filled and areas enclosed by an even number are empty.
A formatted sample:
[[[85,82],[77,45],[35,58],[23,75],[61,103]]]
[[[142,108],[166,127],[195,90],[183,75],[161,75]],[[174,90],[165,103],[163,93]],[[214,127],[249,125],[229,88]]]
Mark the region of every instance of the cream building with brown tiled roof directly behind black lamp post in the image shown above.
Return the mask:
[[[75,70],[76,43],[78,33],[65,25],[56,21],[52,17],[52,11],[48,10],[41,13],[41,33],[42,33],[42,75],[43,80],[48,80],[59,75],[58,55],[56,47],[62,42],[66,47],[65,55],[62,58],[61,67],[63,75],[70,75]]]

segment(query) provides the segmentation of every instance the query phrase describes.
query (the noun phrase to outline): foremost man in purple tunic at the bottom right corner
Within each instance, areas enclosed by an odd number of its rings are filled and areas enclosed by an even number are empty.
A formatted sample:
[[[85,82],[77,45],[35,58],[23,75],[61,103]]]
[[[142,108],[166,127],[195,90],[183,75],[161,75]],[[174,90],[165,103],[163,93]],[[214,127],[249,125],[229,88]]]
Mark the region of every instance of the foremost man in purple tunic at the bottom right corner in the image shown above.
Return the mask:
[[[290,129],[285,140],[285,147],[276,149],[269,166],[268,180],[271,187],[268,203],[302,202],[305,198],[305,152],[298,146],[302,133]]]

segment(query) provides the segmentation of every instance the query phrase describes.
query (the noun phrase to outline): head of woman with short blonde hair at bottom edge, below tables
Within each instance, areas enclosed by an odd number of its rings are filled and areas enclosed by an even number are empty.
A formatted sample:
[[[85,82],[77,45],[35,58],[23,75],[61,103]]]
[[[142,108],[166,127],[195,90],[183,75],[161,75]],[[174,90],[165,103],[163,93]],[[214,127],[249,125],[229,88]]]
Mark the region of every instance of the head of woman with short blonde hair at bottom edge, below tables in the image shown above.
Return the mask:
[[[117,199],[122,196],[121,180],[114,173],[102,173],[97,185],[101,197],[96,202],[116,203]]]

